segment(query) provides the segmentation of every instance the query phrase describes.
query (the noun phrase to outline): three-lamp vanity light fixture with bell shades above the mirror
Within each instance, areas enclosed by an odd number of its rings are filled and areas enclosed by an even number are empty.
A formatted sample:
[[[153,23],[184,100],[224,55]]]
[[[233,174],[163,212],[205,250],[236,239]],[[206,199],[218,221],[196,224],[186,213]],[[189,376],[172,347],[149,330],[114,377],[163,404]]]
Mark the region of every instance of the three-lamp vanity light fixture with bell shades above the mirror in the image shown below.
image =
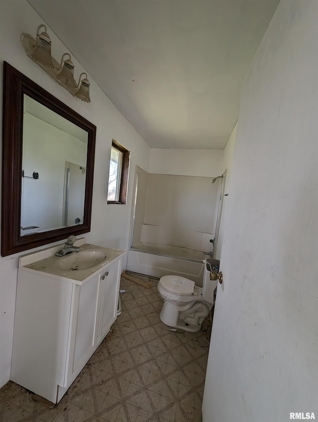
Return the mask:
[[[40,32],[42,27],[44,27],[44,32]],[[71,60],[71,55],[64,53],[61,63],[58,63],[52,57],[52,42],[45,25],[42,24],[38,27],[35,39],[29,34],[22,34],[21,44],[27,56],[49,73],[60,85],[64,86],[74,97],[90,103],[87,74],[85,72],[81,73],[79,75],[79,83],[76,83],[74,78],[75,66]],[[69,58],[63,61],[65,56]],[[82,75],[85,75],[85,78],[80,79]]]

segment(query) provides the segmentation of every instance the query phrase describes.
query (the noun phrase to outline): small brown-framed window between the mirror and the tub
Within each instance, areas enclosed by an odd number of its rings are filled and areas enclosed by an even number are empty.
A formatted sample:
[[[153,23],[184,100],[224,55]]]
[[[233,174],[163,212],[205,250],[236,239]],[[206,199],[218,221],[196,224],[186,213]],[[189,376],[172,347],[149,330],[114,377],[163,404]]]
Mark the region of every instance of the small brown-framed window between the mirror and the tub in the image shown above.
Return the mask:
[[[126,204],[130,152],[113,140],[111,143],[107,204]]]

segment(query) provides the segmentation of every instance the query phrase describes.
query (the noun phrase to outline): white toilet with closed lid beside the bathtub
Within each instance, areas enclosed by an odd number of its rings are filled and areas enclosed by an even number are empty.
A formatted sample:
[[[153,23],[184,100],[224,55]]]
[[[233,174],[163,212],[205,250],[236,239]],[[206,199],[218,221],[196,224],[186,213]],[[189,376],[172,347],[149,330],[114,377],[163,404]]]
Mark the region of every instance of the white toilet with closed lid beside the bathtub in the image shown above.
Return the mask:
[[[218,282],[210,280],[206,261],[202,287],[180,276],[163,276],[159,280],[158,292],[163,300],[159,317],[165,325],[193,333],[201,330],[202,321],[213,306]]]

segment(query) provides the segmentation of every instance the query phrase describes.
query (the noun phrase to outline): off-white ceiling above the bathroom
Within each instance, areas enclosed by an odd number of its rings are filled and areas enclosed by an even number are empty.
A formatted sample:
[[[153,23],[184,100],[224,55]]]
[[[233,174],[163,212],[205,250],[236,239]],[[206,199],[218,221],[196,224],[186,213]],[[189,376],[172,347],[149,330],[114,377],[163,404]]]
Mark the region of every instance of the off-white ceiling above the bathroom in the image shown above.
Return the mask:
[[[28,2],[151,147],[210,149],[279,0]]]

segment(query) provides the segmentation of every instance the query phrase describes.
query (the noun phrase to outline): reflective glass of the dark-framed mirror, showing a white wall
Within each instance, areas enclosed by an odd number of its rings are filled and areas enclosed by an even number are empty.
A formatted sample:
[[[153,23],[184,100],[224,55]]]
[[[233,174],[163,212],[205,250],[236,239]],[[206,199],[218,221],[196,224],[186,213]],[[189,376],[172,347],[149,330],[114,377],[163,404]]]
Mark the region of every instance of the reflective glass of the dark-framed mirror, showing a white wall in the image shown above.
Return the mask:
[[[82,224],[87,135],[24,94],[21,236]]]

